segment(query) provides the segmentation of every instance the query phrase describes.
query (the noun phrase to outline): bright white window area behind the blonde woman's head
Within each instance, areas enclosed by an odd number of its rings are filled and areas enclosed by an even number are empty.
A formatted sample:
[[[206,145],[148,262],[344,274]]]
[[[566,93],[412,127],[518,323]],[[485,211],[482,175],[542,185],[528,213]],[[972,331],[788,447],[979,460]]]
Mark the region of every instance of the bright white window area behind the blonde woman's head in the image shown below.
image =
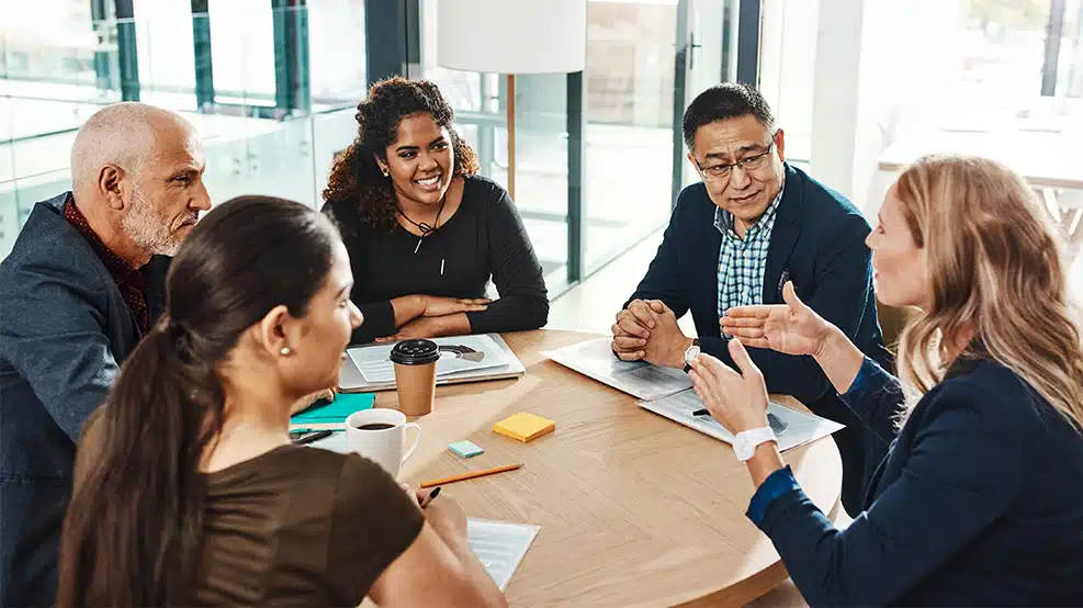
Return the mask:
[[[760,81],[790,158],[803,157],[870,218],[899,172],[925,154],[1000,160],[1034,187],[1078,256],[1081,0],[765,7]]]

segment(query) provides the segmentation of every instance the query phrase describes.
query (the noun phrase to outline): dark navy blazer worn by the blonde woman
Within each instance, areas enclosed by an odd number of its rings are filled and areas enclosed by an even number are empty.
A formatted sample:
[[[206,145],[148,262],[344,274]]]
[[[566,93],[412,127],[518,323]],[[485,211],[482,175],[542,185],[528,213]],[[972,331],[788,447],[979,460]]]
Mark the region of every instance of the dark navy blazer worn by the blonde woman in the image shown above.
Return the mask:
[[[797,489],[770,537],[812,606],[1083,606],[1083,434],[1014,372],[954,367],[898,432],[898,381],[866,360],[846,395],[894,439],[845,530]]]

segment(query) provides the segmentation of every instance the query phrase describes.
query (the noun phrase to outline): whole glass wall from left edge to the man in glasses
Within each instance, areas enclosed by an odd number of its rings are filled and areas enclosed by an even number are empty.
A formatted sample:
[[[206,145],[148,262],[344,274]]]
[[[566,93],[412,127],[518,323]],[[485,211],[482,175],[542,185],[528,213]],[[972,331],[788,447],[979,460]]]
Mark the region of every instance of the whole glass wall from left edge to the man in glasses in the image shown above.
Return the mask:
[[[482,172],[506,183],[505,79],[439,67],[437,1],[37,0],[8,12],[0,258],[33,204],[70,188],[78,127],[116,101],[196,125],[214,202],[262,193],[318,206],[368,85],[428,78],[455,108]],[[590,0],[586,71],[517,78],[516,203],[553,296],[664,226],[696,179],[680,113],[736,74],[740,4]]]

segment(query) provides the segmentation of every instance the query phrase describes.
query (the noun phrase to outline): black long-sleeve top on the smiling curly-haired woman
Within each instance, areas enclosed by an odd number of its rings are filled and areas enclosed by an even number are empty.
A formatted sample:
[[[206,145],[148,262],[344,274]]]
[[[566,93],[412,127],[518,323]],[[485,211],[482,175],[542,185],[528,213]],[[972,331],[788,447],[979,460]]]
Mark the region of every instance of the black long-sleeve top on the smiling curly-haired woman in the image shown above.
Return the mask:
[[[485,297],[492,279],[500,294],[482,312],[466,313],[474,334],[537,329],[549,319],[549,296],[522,219],[507,191],[481,176],[463,176],[462,203],[425,237],[402,226],[363,223],[354,201],[328,201],[324,213],[342,232],[353,270],[353,303],[364,323],[351,342],[395,334],[391,301],[404,295]]]

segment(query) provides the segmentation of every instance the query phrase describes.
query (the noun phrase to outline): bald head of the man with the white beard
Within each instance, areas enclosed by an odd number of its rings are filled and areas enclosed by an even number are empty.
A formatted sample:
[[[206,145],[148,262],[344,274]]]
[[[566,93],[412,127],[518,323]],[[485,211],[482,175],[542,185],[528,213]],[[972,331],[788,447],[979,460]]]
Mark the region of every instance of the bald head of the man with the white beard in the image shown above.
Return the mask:
[[[76,204],[133,263],[172,255],[211,206],[203,165],[199,133],[180,115],[145,103],[110,105],[82,125],[71,147]]]

